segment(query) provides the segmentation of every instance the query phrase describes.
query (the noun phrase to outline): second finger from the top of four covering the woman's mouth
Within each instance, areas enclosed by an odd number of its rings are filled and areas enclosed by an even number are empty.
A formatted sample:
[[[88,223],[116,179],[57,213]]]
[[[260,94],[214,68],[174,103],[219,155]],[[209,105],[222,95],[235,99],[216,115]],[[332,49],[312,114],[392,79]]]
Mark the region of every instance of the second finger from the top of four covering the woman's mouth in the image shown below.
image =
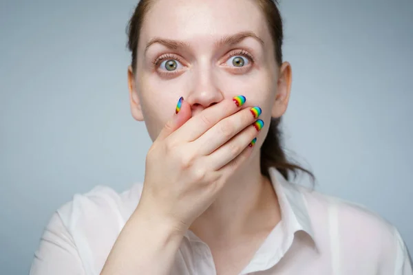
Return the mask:
[[[209,155],[254,122],[257,122],[257,126],[260,126],[261,129],[262,126],[264,126],[264,122],[257,120],[261,113],[260,107],[238,111],[215,124],[211,129],[201,135],[198,140],[195,140],[193,146],[199,148],[201,155]],[[249,141],[251,142],[251,140]]]

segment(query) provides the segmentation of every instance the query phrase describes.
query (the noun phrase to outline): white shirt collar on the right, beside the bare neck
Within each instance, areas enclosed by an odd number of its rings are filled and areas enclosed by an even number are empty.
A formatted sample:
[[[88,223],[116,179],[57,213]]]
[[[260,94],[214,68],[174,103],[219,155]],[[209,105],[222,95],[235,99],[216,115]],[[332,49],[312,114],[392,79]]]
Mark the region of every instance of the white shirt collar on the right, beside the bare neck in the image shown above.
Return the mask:
[[[294,241],[295,232],[298,231],[306,232],[313,240],[315,251],[319,251],[304,197],[304,187],[287,181],[275,167],[269,168],[268,173],[277,194],[281,221],[268,235],[242,274],[268,270],[273,267],[286,254]]]

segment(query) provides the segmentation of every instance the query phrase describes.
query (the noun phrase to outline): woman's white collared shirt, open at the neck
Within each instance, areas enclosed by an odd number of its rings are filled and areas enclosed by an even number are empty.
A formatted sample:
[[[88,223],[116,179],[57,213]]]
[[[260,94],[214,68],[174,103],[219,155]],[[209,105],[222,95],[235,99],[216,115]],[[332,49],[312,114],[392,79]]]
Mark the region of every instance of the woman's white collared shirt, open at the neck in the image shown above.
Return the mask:
[[[362,206],[289,183],[275,168],[269,173],[282,220],[240,274],[413,274],[405,243],[393,225]],[[141,191],[142,184],[120,194],[97,186],[75,195],[50,219],[30,274],[100,274]],[[171,274],[215,274],[211,251],[190,230]]]

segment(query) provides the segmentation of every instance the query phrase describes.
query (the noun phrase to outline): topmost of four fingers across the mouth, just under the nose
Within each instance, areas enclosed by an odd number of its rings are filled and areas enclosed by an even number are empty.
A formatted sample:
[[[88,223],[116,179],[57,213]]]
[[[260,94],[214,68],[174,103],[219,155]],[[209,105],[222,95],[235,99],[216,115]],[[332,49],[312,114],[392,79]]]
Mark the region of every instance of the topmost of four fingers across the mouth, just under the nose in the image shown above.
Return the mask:
[[[244,96],[222,100],[218,104],[204,109],[199,115],[190,118],[174,135],[180,135],[184,141],[192,142],[223,118],[239,111],[245,101]]]

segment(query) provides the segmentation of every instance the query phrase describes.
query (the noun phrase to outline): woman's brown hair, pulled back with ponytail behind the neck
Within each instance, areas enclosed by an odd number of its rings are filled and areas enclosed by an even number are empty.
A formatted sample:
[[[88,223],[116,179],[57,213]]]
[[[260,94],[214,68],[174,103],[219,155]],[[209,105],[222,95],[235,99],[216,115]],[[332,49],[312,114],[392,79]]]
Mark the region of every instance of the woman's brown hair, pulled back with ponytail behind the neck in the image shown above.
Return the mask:
[[[273,43],[275,45],[275,62],[278,66],[282,64],[282,43],[284,40],[282,17],[277,7],[278,0],[254,0],[260,5],[262,12],[266,18],[266,23],[271,32]],[[127,25],[127,35],[129,51],[131,51],[131,67],[132,71],[136,72],[136,56],[138,50],[138,41],[140,29],[145,19],[145,14],[151,8],[155,1],[140,0],[135,8]],[[281,118],[272,118],[268,134],[261,147],[260,168],[262,175],[269,177],[268,168],[275,167],[286,178],[290,179],[289,174],[292,173],[297,177],[299,172],[307,173],[314,182],[314,175],[309,170],[302,168],[298,164],[288,161],[286,153],[282,145],[282,131],[280,129]]]

